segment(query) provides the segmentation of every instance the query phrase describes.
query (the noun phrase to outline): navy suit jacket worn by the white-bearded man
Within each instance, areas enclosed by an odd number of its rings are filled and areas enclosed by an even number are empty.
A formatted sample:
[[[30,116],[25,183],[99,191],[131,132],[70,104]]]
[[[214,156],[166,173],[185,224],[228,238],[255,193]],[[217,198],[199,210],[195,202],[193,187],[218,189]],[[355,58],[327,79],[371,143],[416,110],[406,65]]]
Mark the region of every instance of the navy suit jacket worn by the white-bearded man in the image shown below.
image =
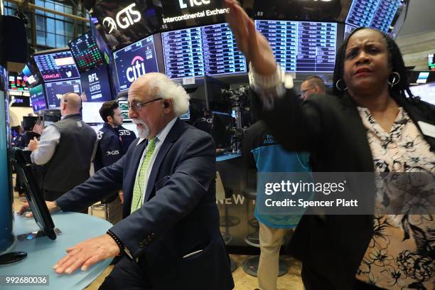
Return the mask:
[[[177,119],[154,161],[145,203],[130,215],[136,171],[146,147],[146,141],[136,143],[122,159],[56,203],[64,211],[84,208],[122,184],[124,219],[111,230],[134,259],[139,257],[153,289],[232,289],[215,201],[213,138]]]

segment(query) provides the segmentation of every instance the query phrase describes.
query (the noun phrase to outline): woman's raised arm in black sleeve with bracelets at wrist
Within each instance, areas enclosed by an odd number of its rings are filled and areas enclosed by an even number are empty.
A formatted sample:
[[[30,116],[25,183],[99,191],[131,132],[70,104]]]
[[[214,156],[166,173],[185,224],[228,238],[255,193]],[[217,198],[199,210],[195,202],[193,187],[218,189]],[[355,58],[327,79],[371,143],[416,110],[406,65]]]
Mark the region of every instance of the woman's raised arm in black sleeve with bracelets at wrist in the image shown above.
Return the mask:
[[[267,39],[235,0],[224,0],[230,8],[227,22],[237,46],[249,62],[252,107],[285,149],[316,151],[325,124],[316,102],[301,102],[293,90],[293,79],[283,77]]]

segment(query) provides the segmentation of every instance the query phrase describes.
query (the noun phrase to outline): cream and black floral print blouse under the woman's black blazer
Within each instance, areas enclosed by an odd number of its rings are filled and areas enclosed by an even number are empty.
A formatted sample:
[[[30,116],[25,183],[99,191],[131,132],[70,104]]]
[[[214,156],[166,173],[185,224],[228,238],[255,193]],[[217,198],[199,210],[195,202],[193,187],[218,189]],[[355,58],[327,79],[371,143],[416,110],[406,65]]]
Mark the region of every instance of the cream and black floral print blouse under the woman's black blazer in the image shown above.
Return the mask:
[[[386,132],[358,107],[376,173],[435,173],[435,154],[402,107]],[[433,186],[433,182],[432,182]],[[378,193],[382,193],[377,184]],[[383,193],[387,195],[386,193]],[[377,206],[382,206],[376,200]],[[435,215],[375,215],[356,278],[382,289],[435,289]]]

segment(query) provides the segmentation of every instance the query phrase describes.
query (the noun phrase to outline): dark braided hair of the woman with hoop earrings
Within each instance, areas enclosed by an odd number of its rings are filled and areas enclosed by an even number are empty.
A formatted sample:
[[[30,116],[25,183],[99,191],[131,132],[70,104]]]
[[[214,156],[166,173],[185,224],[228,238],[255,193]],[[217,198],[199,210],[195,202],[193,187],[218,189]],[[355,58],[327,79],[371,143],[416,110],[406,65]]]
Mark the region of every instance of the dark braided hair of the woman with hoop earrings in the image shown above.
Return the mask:
[[[343,95],[343,90],[338,90],[337,87],[335,87],[335,84],[340,81],[340,87],[345,87],[345,83],[343,80],[343,74],[344,74],[344,60],[345,60],[345,51],[346,46],[348,46],[348,41],[355,32],[360,31],[362,29],[370,29],[372,31],[377,31],[377,33],[380,33],[382,37],[385,40],[385,43],[387,43],[387,50],[388,54],[390,55],[390,65],[393,72],[399,73],[400,75],[400,81],[393,87],[389,87],[388,90],[390,91],[390,94],[400,96],[403,98],[406,98],[407,95],[405,95],[405,92],[409,95],[410,98],[414,99],[414,95],[412,95],[412,92],[409,90],[409,82],[408,82],[408,72],[407,69],[404,66],[402,53],[400,53],[399,47],[397,44],[390,38],[390,36],[387,36],[387,34],[383,33],[382,31],[378,31],[377,29],[373,28],[367,28],[367,27],[360,27],[352,31],[348,38],[345,39],[343,44],[338,49],[337,56],[335,58],[335,69],[334,69],[334,79],[333,79],[333,95],[341,96]]]

